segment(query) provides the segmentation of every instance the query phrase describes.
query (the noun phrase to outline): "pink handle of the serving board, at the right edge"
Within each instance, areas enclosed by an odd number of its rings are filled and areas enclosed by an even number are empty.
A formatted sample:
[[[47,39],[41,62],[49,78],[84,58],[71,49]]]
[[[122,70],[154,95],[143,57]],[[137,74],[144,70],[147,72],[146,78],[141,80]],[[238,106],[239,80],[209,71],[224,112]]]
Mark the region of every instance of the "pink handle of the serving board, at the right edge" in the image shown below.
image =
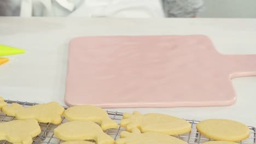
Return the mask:
[[[229,55],[230,78],[256,76],[256,55]]]

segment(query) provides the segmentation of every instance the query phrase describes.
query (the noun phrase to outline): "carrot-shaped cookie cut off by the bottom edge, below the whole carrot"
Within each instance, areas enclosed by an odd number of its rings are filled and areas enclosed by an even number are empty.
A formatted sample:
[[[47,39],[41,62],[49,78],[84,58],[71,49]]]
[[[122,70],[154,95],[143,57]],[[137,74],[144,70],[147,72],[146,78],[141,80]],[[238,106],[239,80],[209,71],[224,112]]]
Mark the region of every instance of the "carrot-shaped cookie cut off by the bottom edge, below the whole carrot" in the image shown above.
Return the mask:
[[[115,141],[116,144],[185,144],[187,142],[177,139],[176,137],[156,133],[156,132],[146,132],[141,133],[138,128],[132,129],[132,133],[127,131],[122,131],[120,134],[121,139]]]

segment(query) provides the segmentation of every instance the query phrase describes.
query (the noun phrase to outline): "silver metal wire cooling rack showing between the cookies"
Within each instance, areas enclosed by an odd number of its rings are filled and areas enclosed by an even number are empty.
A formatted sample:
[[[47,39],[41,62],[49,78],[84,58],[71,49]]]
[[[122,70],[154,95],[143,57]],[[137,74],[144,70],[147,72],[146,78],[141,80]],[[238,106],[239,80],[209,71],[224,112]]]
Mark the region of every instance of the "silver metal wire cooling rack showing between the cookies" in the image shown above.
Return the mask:
[[[36,105],[36,103],[28,103],[28,102],[22,102],[22,101],[13,101],[13,100],[5,100],[8,104],[11,103],[18,103],[24,107],[30,107],[33,105]],[[65,107],[65,109],[68,109],[68,107]],[[110,118],[112,118],[115,122],[118,124],[120,123],[120,120],[123,117],[122,112],[113,112],[113,111],[107,111],[108,115]],[[5,113],[1,112],[0,113],[0,122],[9,122],[15,120],[15,117],[5,115]],[[178,139],[184,140],[188,143],[193,143],[193,144],[201,144],[206,141],[211,141],[210,139],[207,139],[207,137],[201,135],[197,130],[196,130],[196,124],[199,123],[199,121],[194,121],[194,120],[187,120],[188,122],[191,123],[192,130],[188,134],[184,135],[177,135]],[[62,123],[67,122],[67,120],[62,117]],[[59,144],[61,142],[64,142],[60,139],[58,139],[54,135],[54,129],[58,127],[60,124],[52,124],[52,123],[39,123],[42,133],[40,133],[37,137],[34,137],[33,143],[49,143],[49,144]],[[248,139],[237,142],[237,143],[243,143],[243,144],[256,144],[256,129],[254,127],[249,127],[251,135],[249,136]],[[117,129],[108,129],[104,131],[108,135],[112,136],[113,139],[118,139],[120,132],[124,131],[125,128],[120,128],[118,127]],[[0,143],[9,143],[5,140],[0,141]]]

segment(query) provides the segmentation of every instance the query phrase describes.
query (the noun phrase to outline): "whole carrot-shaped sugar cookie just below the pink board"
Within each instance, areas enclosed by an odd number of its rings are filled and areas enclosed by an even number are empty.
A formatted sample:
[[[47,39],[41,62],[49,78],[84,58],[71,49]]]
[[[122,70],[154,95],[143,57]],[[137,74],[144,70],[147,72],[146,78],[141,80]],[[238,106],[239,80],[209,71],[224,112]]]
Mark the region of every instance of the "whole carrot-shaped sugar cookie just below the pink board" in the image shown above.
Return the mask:
[[[160,113],[142,115],[138,111],[133,114],[124,113],[120,126],[126,127],[127,131],[138,128],[142,133],[155,131],[167,135],[180,135],[191,131],[191,124],[184,119]]]

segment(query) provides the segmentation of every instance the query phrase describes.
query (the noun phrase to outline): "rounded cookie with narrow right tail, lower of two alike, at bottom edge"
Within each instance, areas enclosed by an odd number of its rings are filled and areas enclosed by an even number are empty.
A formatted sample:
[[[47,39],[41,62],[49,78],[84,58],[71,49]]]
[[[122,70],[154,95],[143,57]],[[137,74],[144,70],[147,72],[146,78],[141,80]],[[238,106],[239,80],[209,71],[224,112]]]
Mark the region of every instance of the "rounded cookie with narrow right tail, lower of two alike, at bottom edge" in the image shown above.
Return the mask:
[[[95,140],[97,144],[115,143],[98,124],[86,120],[63,123],[54,129],[54,134],[64,141]]]

